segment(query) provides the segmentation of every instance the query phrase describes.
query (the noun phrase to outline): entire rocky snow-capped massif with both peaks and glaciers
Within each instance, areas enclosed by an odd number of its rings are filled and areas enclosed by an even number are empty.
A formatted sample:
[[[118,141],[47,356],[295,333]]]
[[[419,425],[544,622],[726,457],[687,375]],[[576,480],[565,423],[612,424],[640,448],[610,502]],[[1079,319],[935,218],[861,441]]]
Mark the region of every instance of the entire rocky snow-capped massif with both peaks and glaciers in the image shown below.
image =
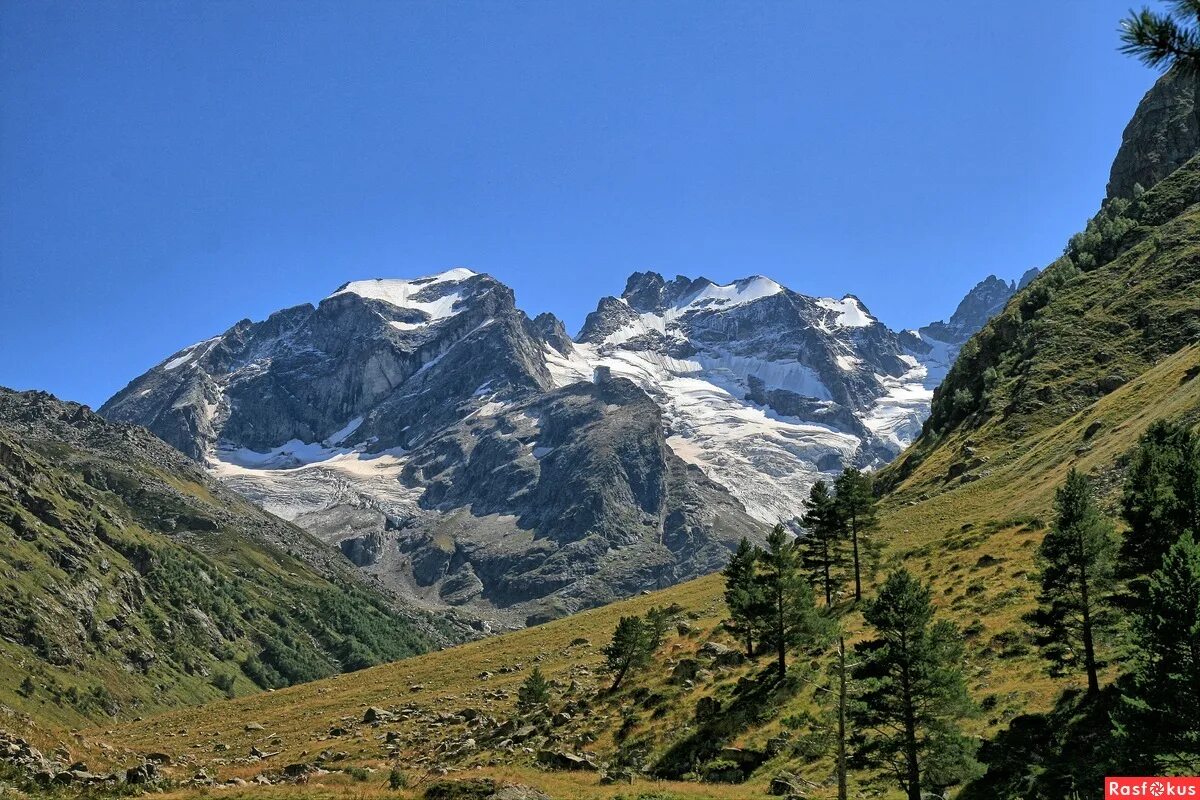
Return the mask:
[[[242,320],[101,413],[416,601],[508,625],[719,569],[818,476],[911,441],[946,347],[852,295],[653,272],[572,341],[456,269]]]

